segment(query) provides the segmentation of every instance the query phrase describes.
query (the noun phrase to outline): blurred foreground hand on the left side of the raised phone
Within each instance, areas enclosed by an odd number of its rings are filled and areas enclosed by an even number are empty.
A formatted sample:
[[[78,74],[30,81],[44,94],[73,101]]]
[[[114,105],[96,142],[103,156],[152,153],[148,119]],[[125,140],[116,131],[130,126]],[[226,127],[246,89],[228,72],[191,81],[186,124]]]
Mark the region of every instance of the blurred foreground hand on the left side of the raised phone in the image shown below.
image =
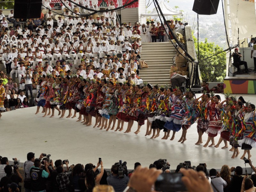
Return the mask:
[[[140,192],[151,192],[151,188],[156,182],[157,177],[162,173],[156,168],[148,169],[147,167],[136,168],[133,172],[128,186]]]

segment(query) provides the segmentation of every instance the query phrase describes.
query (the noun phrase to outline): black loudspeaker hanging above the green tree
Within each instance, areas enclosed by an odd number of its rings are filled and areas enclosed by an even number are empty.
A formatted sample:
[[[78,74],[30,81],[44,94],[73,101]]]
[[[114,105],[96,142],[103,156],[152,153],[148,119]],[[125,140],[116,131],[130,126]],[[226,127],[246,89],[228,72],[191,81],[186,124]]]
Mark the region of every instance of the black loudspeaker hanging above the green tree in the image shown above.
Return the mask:
[[[199,15],[216,14],[220,0],[195,0],[193,11]]]

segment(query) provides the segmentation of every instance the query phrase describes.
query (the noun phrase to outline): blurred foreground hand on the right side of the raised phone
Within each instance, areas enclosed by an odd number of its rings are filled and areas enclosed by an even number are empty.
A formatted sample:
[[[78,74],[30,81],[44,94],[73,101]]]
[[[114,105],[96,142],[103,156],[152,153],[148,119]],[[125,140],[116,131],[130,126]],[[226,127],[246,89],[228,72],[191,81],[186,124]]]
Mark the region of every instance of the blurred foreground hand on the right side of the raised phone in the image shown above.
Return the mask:
[[[184,168],[181,168],[180,172],[184,175],[181,180],[186,185],[188,192],[213,192],[204,172]]]

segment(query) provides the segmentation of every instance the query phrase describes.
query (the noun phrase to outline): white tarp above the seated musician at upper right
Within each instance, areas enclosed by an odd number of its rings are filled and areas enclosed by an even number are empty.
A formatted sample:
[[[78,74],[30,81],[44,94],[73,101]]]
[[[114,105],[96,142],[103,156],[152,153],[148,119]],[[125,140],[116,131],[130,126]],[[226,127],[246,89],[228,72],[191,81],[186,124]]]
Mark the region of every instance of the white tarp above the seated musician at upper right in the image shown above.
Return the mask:
[[[255,35],[256,32],[256,17],[255,6],[253,1],[245,0],[229,0],[230,19],[232,40],[237,43],[238,28],[239,39],[244,39]]]

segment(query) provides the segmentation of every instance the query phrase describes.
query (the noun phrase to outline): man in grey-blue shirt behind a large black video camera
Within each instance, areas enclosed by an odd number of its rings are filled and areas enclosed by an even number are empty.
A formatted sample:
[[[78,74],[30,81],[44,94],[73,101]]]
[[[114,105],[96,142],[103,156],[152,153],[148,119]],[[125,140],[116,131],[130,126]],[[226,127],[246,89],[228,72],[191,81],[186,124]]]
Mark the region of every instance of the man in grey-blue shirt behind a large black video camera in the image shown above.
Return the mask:
[[[129,178],[125,174],[123,174],[123,178],[120,178],[119,170],[118,165],[112,165],[111,174],[107,177],[107,181],[108,185],[111,185],[116,192],[123,192],[129,182]]]

